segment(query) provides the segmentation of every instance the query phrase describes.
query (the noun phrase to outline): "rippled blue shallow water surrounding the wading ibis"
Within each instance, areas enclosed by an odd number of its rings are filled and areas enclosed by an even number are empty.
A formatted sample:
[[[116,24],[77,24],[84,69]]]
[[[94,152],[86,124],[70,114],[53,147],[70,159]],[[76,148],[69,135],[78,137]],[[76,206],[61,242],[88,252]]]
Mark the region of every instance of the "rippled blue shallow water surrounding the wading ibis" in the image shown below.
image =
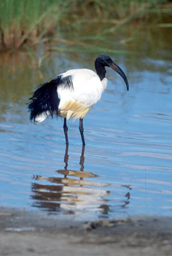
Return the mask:
[[[36,84],[70,68],[93,69],[97,54],[54,53],[41,68],[3,56],[1,206],[77,220],[171,216],[172,61],[165,46],[161,42],[150,51],[144,44],[139,54],[111,54],[127,74],[130,90],[107,70],[107,90],[84,118],[84,148],[78,121],[68,121],[66,148],[63,120],[31,124],[26,102]]]

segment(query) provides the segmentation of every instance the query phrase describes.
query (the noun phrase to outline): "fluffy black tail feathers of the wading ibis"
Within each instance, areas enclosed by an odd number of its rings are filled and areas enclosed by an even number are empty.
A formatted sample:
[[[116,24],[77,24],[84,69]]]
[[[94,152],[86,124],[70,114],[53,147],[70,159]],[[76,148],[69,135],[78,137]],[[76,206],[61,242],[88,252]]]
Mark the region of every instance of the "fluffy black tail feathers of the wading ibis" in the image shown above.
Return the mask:
[[[49,83],[43,83],[33,93],[28,104],[30,120],[35,122],[36,116],[44,113],[45,115],[58,116],[59,98],[57,87],[61,77],[53,79]]]

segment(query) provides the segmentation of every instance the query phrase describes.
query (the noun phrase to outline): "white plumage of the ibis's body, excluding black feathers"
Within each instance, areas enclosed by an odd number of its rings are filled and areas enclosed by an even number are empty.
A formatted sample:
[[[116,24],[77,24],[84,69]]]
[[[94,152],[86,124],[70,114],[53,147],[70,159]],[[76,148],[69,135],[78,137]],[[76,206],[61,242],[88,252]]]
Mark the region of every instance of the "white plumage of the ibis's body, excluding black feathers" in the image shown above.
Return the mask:
[[[73,90],[70,87],[65,88],[63,84],[57,88],[60,100],[58,108],[61,113],[64,113],[64,116],[63,114],[61,116],[67,120],[72,116],[74,120],[83,118],[88,110],[100,100],[107,86],[106,77],[100,81],[95,72],[86,68],[68,70],[59,76],[62,78],[72,76]],[[43,122],[49,115],[51,115],[50,111],[43,112],[35,117],[35,121]]]

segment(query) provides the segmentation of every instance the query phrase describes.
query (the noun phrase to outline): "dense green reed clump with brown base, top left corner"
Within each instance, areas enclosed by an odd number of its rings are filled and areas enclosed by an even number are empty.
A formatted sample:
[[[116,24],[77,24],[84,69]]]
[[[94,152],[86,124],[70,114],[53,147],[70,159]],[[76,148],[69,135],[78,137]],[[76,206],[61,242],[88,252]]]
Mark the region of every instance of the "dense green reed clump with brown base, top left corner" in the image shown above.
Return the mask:
[[[37,44],[56,33],[66,2],[62,0],[1,0],[1,48],[19,49],[25,43]]]

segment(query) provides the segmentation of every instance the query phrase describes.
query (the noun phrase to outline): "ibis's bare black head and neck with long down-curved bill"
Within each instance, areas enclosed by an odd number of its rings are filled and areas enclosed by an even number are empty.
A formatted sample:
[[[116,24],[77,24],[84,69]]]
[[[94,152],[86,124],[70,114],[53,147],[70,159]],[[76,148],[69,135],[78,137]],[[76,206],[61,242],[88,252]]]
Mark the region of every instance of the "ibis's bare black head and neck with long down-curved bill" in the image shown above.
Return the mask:
[[[102,79],[104,79],[106,75],[105,67],[113,68],[114,71],[120,74],[120,76],[125,81],[125,84],[127,86],[127,91],[129,91],[129,82],[123,70],[121,70],[121,68],[118,65],[116,65],[116,63],[113,62],[111,57],[109,57],[107,54],[102,53],[95,60],[95,69],[101,81]]]

